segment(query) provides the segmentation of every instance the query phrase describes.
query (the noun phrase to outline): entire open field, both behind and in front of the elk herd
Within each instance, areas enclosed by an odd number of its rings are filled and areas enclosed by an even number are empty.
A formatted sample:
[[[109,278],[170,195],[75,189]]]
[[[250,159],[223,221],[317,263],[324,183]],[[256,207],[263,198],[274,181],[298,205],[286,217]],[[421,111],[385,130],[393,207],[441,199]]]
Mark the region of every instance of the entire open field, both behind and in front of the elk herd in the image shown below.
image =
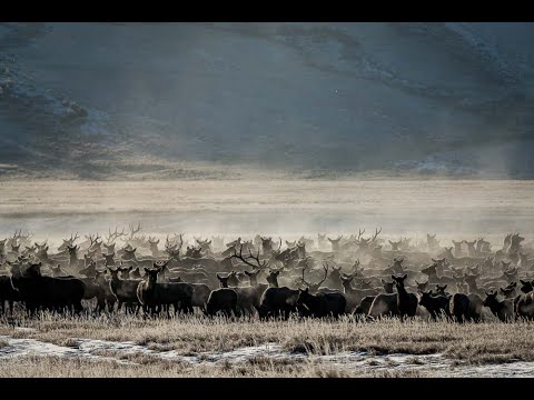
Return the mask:
[[[3,182],[0,237],[141,222],[142,233],[534,237],[528,181]],[[165,238],[165,237],[164,237]],[[123,314],[0,322],[0,377],[534,377],[532,323],[230,321]]]

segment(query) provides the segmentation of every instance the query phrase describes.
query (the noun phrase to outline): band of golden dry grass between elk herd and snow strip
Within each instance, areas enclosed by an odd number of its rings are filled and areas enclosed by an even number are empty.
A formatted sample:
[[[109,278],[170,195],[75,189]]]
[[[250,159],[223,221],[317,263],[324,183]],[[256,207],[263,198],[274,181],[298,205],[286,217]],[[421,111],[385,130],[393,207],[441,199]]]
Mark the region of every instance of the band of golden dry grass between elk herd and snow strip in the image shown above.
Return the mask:
[[[182,356],[278,343],[290,352],[314,354],[339,351],[443,353],[468,364],[534,361],[531,350],[534,329],[528,322],[457,324],[421,320],[400,322],[397,319],[358,322],[353,318],[229,321],[202,317],[144,320],[126,316],[73,319],[46,314],[39,320],[24,320],[22,324],[34,330],[0,326],[0,334],[59,346],[69,346],[70,338],[134,341],[151,350],[176,350]]]

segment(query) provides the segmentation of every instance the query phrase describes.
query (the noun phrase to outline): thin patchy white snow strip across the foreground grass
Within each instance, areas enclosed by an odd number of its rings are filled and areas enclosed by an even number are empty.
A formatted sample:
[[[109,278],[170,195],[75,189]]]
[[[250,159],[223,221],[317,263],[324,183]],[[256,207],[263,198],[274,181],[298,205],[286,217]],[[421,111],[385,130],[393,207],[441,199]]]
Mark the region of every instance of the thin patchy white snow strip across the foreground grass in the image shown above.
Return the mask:
[[[438,373],[445,377],[534,377],[534,362],[512,361],[510,363],[484,366],[453,366],[442,354],[387,354],[373,356],[365,352],[338,352],[327,356],[308,356],[291,353],[277,343],[266,343],[255,347],[240,348],[228,352],[202,352],[197,356],[180,356],[176,351],[154,351],[134,342],[116,342],[106,340],[79,339],[69,340],[69,347],[57,346],[34,339],[13,339],[0,336],[7,343],[0,348],[0,360],[17,357],[60,357],[80,358],[89,361],[113,361],[131,364],[135,362],[120,359],[128,354],[144,354],[160,358],[161,360],[191,364],[244,364],[257,357],[267,357],[274,360],[309,361],[323,366],[336,367],[352,372],[379,372],[387,370],[422,370]],[[112,351],[116,357],[99,356],[98,352]]]

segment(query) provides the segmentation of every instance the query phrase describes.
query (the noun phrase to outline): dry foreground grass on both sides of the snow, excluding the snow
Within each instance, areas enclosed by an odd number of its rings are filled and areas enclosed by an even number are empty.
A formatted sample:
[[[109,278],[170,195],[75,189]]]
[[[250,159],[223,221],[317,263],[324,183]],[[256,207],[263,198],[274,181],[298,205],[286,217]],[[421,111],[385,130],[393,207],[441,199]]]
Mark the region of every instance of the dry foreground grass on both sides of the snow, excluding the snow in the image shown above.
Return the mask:
[[[30,329],[0,327],[0,336],[37,339],[62,347],[77,347],[76,338],[111,342],[134,342],[151,353],[106,350],[93,354],[109,359],[85,360],[50,357],[6,357],[0,377],[344,377],[344,376],[433,376],[424,369],[345,369],[322,359],[346,352],[442,354],[451,366],[487,366],[534,361],[532,323],[466,323],[463,326],[421,320],[358,322],[297,320],[258,321],[199,317],[144,320],[126,316],[61,318],[42,316],[22,320]],[[178,356],[224,353],[266,343],[278,344],[286,354],[306,357],[256,356],[243,362],[187,363],[166,360],[158,353],[172,350]],[[4,343],[3,346],[7,346]],[[120,360],[115,362],[110,360]],[[372,362],[372,361],[369,361]]]

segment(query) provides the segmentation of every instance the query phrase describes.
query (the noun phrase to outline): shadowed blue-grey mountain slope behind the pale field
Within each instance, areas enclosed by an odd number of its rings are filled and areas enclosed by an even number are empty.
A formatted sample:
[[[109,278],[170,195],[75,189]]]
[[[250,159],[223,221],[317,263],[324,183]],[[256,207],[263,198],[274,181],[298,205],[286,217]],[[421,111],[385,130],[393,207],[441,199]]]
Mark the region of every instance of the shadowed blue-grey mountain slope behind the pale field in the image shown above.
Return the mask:
[[[532,38],[532,23],[0,24],[0,173],[531,178]]]

